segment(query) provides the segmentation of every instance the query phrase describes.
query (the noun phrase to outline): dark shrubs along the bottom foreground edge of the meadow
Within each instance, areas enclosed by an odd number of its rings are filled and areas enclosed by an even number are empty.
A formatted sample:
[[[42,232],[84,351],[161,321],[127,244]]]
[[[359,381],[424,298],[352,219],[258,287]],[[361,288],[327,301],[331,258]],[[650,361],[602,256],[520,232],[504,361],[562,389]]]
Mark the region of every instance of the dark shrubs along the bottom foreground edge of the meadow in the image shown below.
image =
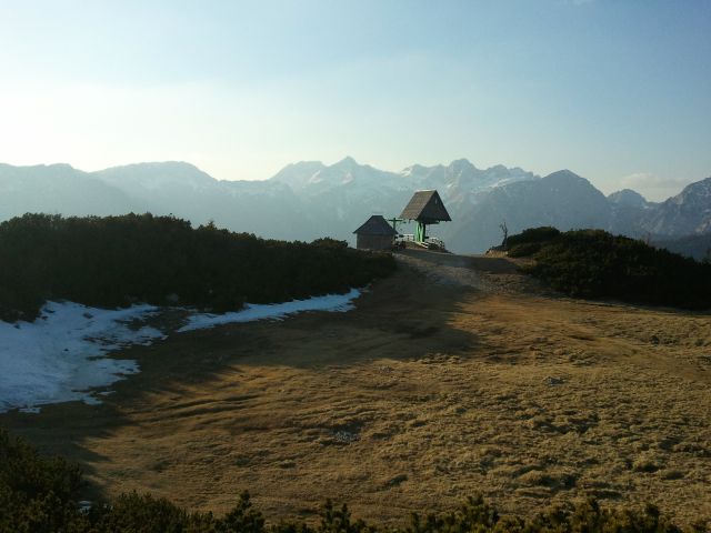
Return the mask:
[[[408,525],[383,529],[351,520],[348,509],[331,502],[322,507],[320,523],[298,521],[266,525],[264,516],[241,494],[232,511],[221,517],[188,512],[166,499],[136,493],[110,503],[79,509],[81,473],[61,459],[44,459],[23,441],[0,430],[0,533],[402,533],[464,532],[681,532],[659,510],[600,509],[590,500],[570,507],[555,507],[532,520],[501,517],[481,497],[469,499],[457,511],[421,516],[412,514]],[[688,531],[704,532],[699,522]]]

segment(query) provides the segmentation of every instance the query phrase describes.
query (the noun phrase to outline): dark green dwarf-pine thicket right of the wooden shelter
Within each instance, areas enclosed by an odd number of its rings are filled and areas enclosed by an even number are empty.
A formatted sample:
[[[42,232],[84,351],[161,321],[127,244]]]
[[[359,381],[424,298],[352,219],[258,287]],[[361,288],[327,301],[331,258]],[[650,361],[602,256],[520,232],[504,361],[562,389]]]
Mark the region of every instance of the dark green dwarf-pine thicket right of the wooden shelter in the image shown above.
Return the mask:
[[[509,255],[531,257],[525,270],[553,289],[580,298],[711,306],[711,264],[602,230],[535,228],[510,237]]]

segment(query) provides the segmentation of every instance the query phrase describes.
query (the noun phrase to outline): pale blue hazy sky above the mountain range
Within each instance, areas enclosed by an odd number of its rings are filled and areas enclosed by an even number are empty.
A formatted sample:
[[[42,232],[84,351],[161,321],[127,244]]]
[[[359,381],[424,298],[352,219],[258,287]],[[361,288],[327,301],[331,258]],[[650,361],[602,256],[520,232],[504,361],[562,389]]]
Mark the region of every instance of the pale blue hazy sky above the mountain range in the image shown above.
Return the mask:
[[[0,161],[711,175],[709,0],[0,0]]]

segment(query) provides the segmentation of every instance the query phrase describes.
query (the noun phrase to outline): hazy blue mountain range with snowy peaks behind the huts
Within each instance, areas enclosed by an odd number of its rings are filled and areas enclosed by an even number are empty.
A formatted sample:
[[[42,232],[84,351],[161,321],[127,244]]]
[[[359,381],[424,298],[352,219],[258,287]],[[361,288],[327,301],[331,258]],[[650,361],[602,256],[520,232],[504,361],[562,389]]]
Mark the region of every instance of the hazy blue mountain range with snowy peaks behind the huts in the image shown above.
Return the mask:
[[[263,181],[220,181],[184,162],[138,163],[97,172],[68,164],[0,164],[0,220],[26,212],[107,215],[172,213],[264,238],[353,242],[371,214],[400,214],[413,191],[437,189],[452,222],[432,228],[453,251],[482,252],[509,233],[553,225],[644,238],[698,258],[711,234],[711,178],[664,202],[625,189],[605,197],[569,170],[545,177],[520,168],[479,169],[465,159],[389,172],[352,158],[293,163]],[[408,227],[399,227],[409,231]],[[678,241],[683,244],[679,244]]]

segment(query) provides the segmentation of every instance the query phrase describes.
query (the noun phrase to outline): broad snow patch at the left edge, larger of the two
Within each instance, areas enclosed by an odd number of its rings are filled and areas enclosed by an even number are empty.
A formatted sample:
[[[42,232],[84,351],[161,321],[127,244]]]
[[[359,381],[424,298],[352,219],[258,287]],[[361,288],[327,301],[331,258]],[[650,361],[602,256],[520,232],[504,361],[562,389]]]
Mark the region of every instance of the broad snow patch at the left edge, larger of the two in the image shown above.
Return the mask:
[[[39,405],[74,400],[97,403],[89,389],[139,370],[136,361],[103,355],[164,338],[154,328],[128,328],[156,311],[151,305],[106,310],[48,302],[32,323],[0,321],[0,413],[13,408],[34,413]]]

